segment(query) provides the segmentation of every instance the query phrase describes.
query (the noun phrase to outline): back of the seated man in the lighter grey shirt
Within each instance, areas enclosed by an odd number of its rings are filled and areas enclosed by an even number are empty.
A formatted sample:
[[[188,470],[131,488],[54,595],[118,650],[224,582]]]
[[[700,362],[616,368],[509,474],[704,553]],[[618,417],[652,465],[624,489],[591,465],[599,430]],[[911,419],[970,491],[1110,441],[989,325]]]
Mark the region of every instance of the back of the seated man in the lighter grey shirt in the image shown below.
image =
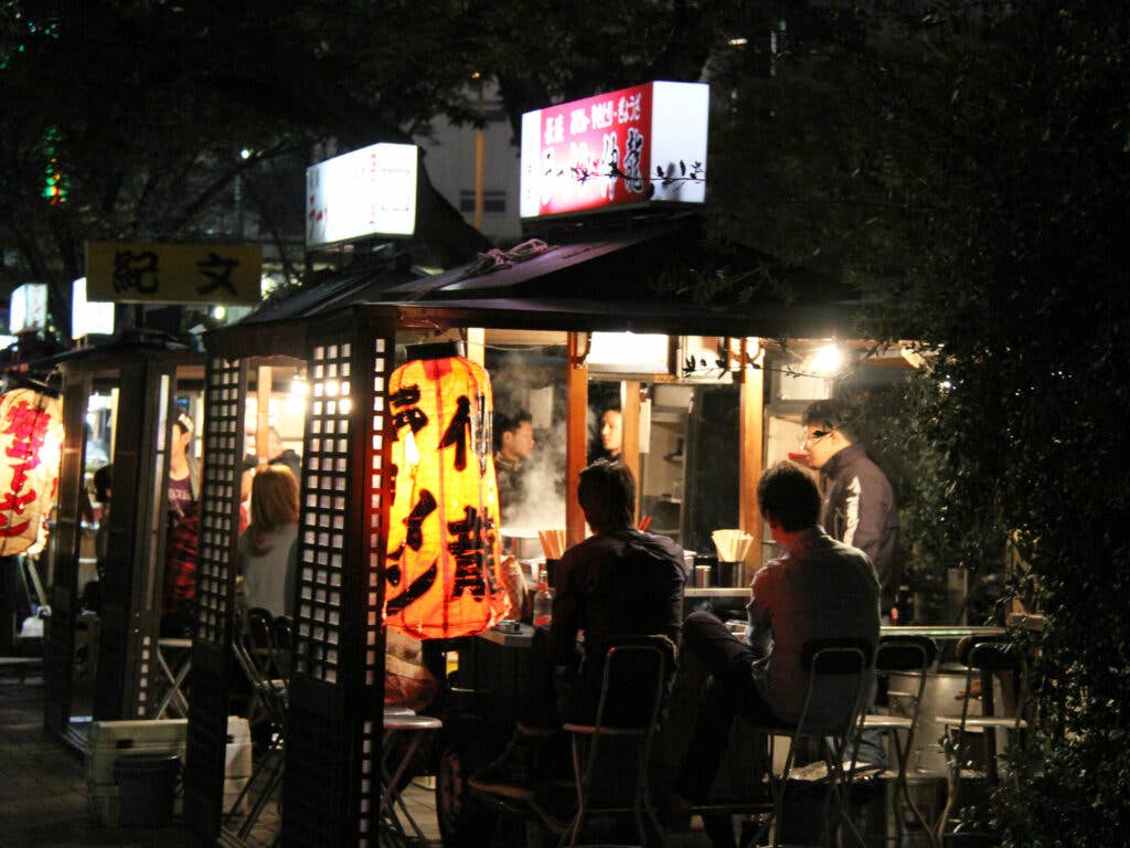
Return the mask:
[[[859,638],[875,647],[879,641],[875,569],[860,551],[818,529],[806,531],[803,544],[793,554],[772,561],[757,573],[747,609],[753,639],[772,632],[772,652],[754,668],[757,689],[786,721],[796,720],[803,707],[808,677],[801,651],[806,642]],[[811,704],[811,715],[832,718],[834,700]]]

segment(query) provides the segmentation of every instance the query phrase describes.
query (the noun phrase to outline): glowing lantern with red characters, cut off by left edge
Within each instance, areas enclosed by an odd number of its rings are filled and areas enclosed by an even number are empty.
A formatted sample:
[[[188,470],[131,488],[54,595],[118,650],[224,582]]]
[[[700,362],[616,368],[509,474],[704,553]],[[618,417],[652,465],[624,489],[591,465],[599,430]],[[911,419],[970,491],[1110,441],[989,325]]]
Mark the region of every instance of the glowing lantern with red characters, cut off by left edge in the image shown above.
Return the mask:
[[[51,510],[63,441],[62,401],[31,389],[0,396],[0,556],[27,551]]]

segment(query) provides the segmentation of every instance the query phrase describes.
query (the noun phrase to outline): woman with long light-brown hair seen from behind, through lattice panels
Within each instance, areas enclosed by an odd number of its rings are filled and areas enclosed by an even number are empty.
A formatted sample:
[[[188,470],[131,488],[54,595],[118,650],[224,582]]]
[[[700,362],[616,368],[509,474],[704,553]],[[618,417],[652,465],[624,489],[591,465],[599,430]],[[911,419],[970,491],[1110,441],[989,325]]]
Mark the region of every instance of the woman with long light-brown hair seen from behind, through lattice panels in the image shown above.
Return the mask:
[[[244,607],[290,615],[297,568],[298,481],[285,465],[269,465],[255,473],[251,523],[240,537]]]

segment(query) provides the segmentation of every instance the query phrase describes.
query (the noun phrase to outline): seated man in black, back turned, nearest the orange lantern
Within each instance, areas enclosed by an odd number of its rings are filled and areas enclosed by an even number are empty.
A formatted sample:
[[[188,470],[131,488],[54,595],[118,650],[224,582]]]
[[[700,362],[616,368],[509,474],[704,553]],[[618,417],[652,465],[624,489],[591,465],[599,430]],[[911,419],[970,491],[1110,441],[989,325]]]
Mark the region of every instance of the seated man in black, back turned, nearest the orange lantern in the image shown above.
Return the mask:
[[[666,536],[632,526],[632,471],[619,462],[593,462],[581,471],[577,500],[594,535],[568,548],[557,565],[553,621],[534,631],[531,646],[532,691],[506,751],[471,777],[480,791],[533,797],[556,764],[546,754],[555,750],[562,720],[594,718],[605,656],[617,639],[662,634],[672,648],[678,644],[686,585],[683,550]],[[577,644],[581,631],[583,649]]]

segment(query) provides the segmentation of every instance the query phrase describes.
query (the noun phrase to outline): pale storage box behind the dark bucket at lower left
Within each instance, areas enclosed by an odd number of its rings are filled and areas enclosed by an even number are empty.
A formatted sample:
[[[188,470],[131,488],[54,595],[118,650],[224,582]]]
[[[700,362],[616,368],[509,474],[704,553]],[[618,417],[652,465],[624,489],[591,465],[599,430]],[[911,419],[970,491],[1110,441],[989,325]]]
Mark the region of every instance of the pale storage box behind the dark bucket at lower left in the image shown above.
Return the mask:
[[[114,761],[119,756],[176,754],[183,762],[188,732],[189,720],[185,718],[90,722],[87,735],[86,787],[94,817],[107,827],[118,825],[121,811],[118,784],[114,780]]]

